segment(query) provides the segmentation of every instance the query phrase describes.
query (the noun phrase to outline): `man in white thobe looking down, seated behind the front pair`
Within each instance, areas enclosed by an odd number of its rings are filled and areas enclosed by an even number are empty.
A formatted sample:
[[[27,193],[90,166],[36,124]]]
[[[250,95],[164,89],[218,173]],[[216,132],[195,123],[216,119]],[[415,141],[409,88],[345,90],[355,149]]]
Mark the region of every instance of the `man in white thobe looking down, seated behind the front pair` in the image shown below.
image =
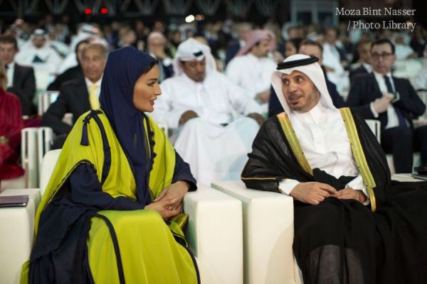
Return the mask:
[[[209,46],[194,38],[179,45],[174,74],[161,84],[154,120],[180,128],[175,149],[198,182],[237,180],[263,120],[259,105],[216,71]]]

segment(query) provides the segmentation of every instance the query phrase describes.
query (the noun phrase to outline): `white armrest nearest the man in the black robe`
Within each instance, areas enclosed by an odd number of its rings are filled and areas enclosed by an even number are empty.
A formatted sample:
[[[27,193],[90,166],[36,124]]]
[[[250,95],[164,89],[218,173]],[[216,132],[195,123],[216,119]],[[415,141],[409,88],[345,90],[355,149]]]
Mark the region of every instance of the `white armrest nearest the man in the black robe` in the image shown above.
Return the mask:
[[[242,202],[244,282],[302,283],[292,252],[292,197],[250,190],[241,181],[213,182],[212,187]]]

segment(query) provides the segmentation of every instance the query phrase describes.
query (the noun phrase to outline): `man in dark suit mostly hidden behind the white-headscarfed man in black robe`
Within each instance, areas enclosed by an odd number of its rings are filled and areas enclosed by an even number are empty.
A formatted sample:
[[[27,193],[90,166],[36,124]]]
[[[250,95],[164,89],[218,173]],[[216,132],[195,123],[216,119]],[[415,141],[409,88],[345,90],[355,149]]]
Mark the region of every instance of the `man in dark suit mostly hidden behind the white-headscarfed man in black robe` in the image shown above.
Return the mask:
[[[322,67],[323,74],[325,75],[325,81],[326,81],[326,87],[327,92],[330,93],[332,103],[334,104],[334,107],[340,108],[340,107],[346,107],[346,104],[344,103],[344,100],[342,99],[341,95],[337,91],[337,87],[334,83],[330,82],[330,80],[327,79],[327,75],[325,72],[325,68],[322,66],[323,58],[323,47],[320,45],[320,43],[317,43],[313,40],[303,40],[300,44],[300,48],[298,48],[298,53],[304,54],[304,55],[313,55],[317,58],[319,58],[319,64]],[[271,88],[272,95],[270,96],[270,100],[268,102],[268,117],[275,116],[276,114],[280,114],[283,112],[282,104],[280,104],[278,96],[274,95],[274,89]]]

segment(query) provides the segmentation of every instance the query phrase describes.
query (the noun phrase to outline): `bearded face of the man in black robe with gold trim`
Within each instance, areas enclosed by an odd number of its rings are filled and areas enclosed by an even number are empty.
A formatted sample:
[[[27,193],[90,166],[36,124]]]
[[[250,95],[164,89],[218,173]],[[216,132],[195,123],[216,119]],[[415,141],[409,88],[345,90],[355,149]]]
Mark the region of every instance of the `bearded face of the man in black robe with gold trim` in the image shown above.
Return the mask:
[[[310,111],[319,102],[320,94],[315,84],[300,71],[282,74],[282,92],[288,106],[294,111]]]

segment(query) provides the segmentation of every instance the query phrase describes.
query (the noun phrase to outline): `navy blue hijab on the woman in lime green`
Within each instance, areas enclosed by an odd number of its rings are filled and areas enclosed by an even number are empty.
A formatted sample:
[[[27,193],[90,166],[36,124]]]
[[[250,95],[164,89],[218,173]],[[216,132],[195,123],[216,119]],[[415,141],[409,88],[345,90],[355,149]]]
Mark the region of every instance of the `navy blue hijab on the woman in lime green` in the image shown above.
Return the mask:
[[[112,51],[105,65],[100,92],[101,109],[127,155],[137,185],[138,201],[144,205],[151,202],[149,141],[143,124],[145,115],[133,104],[133,90],[139,77],[155,63],[157,60],[133,47]]]

